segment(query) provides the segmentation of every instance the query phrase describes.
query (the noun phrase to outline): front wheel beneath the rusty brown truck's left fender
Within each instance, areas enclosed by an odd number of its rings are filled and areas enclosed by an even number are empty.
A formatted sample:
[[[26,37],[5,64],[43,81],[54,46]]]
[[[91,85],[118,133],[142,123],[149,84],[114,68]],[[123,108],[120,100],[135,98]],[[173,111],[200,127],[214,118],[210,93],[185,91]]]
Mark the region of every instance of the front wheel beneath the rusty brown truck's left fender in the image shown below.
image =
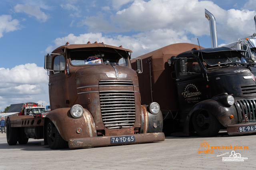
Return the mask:
[[[50,120],[48,120],[46,125],[46,133],[47,142],[51,149],[62,149],[68,147],[68,142],[60,136],[58,129]]]

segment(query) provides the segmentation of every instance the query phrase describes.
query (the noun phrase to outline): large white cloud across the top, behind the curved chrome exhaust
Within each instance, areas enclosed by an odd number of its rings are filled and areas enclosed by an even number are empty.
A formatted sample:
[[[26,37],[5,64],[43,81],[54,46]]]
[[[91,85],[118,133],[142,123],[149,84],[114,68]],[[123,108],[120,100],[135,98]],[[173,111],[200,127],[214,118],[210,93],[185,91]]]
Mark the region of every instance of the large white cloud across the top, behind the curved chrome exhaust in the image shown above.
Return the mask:
[[[206,0],[150,0],[147,2],[134,0],[130,6],[110,16],[110,21],[98,15],[86,18],[83,24],[89,27],[89,31],[105,33],[130,31],[138,33],[168,29],[175,33],[184,33],[192,40],[210,35],[209,21],[204,15],[205,8],[216,18],[218,38],[224,39],[227,43],[250,36],[255,32],[253,21],[255,11],[224,10],[214,2]]]

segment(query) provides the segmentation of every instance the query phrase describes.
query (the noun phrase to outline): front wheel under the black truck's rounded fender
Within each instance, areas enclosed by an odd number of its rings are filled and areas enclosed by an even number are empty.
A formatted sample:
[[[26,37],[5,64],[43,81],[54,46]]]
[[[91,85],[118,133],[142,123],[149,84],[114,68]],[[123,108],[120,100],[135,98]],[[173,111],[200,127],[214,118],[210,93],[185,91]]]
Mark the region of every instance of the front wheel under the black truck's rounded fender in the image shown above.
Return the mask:
[[[201,137],[216,136],[220,131],[221,124],[212,113],[200,110],[192,117],[196,133]]]

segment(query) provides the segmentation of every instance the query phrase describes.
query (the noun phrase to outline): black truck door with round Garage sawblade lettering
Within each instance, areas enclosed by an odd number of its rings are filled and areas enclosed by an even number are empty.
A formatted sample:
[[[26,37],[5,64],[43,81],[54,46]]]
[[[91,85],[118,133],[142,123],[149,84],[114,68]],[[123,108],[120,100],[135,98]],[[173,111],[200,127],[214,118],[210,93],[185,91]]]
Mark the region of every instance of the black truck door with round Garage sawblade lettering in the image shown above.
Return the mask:
[[[181,113],[187,114],[192,106],[208,98],[202,63],[192,56],[176,61],[176,78]]]

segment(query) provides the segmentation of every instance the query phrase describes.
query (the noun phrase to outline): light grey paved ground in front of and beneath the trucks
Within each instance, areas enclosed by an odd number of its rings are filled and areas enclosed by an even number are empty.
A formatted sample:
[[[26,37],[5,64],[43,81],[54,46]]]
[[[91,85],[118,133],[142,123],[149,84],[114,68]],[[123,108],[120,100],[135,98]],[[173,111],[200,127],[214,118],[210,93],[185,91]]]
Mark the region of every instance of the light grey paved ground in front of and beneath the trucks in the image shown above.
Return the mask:
[[[9,146],[6,134],[0,133],[0,170],[256,169],[253,134],[228,136],[221,132],[217,137],[199,137],[194,133],[190,137],[168,136],[163,142],[60,150],[42,142],[29,139],[26,145]]]

